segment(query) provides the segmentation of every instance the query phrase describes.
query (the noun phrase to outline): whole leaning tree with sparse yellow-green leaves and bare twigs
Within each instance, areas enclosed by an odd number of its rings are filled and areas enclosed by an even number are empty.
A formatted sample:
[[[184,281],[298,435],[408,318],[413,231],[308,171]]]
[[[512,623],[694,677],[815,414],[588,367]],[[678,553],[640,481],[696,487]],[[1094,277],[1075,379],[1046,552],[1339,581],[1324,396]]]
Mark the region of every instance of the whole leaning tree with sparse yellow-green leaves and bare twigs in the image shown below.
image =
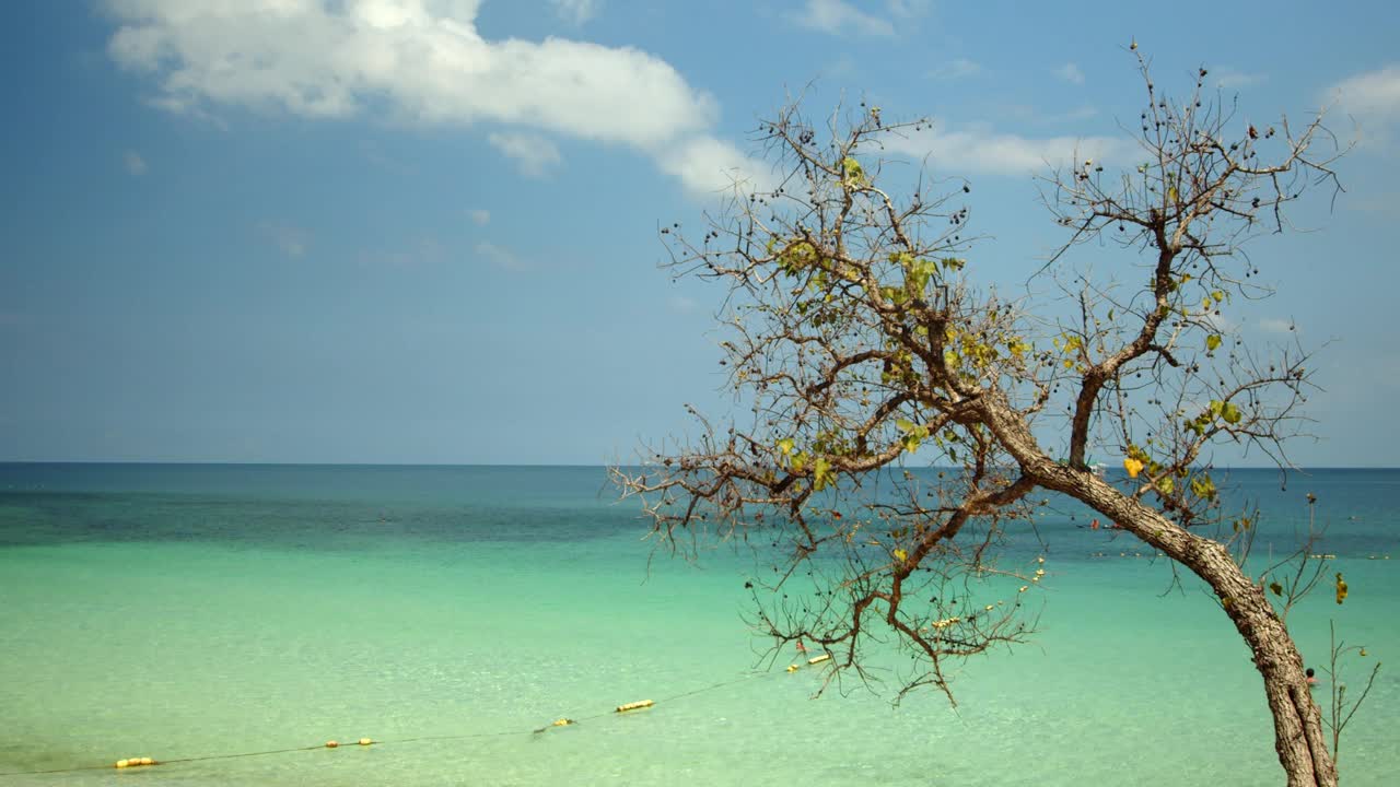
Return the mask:
[[[1288,784],[1336,784],[1285,627],[1320,564],[1308,549],[1246,562],[1256,524],[1225,511],[1211,461],[1229,443],[1288,465],[1306,357],[1245,343],[1228,315],[1267,294],[1242,244],[1288,230],[1284,209],[1308,186],[1337,189],[1341,150],[1320,116],[1250,125],[1204,88],[1204,69],[1177,101],[1138,66],[1135,160],[1119,171],[1075,157],[1042,181],[1067,235],[1036,274],[1064,297],[1040,314],[973,287],[965,183],[889,167],[907,148],[890,143],[925,122],[862,105],[813,125],[794,104],[763,123],[780,183],[736,189],[701,238],[661,231],[678,274],[729,287],[721,363],[752,422],[701,417],[685,445],[613,478],[665,545],[781,534],[791,549],[770,587],[805,569],[816,601],[760,601],[764,630],[819,644],[833,674],[861,671],[869,643],[895,633],[916,657],[904,690],[948,692],[949,658],[1030,634],[1015,599],[1044,570],[998,555],[1008,525],[1043,504],[1032,493],[1067,496],[1210,587],[1263,676]],[[1091,266],[1088,242],[1121,259]],[[1105,478],[1095,452],[1126,472]],[[953,469],[904,472],[914,459]]]

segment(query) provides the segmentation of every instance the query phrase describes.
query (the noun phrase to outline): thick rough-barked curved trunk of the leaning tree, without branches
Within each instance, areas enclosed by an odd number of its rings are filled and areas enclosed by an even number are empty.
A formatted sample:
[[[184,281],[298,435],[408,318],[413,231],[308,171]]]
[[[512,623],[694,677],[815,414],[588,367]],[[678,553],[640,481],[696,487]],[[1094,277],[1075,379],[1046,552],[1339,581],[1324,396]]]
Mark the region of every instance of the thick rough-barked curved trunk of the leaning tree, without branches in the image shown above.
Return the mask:
[[[990,409],[993,430],[1021,462],[1022,472],[1036,483],[1088,504],[1205,580],[1264,678],[1268,710],[1274,716],[1274,749],[1288,774],[1288,787],[1334,787],[1337,766],[1327,751],[1322,711],[1308,689],[1298,647],[1264,590],[1250,581],[1225,546],[1191,534],[1089,472],[1051,461],[1019,420],[997,417],[1005,413],[995,413],[1000,409],[995,406]]]

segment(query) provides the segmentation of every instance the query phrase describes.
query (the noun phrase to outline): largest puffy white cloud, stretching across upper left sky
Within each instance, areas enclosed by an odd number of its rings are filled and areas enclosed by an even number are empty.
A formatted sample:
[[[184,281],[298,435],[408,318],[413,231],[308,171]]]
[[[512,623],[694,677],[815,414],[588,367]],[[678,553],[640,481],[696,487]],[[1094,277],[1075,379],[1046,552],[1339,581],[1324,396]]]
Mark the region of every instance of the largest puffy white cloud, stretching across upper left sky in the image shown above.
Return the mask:
[[[105,0],[108,52],[171,112],[220,106],[417,125],[491,122],[624,144],[665,165],[715,99],[629,46],[487,41],[476,0]],[[589,6],[592,7],[592,6]],[[668,169],[671,169],[668,167]]]

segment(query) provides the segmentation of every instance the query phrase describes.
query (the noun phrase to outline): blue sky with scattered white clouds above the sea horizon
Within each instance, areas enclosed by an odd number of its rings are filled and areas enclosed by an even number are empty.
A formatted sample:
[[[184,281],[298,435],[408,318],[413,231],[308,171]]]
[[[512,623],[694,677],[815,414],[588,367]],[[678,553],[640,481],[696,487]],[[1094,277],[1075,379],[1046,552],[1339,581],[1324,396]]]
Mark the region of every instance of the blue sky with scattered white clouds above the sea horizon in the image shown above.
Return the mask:
[[[1148,6],[1142,6],[1147,8]],[[102,0],[10,7],[0,461],[602,464],[722,412],[722,295],[658,270],[757,118],[808,88],[931,115],[970,255],[1058,238],[1030,175],[1112,158],[1158,83],[1329,105],[1316,232],[1250,252],[1319,350],[1303,465],[1400,465],[1389,3]],[[1130,125],[1130,123],[1128,123]]]

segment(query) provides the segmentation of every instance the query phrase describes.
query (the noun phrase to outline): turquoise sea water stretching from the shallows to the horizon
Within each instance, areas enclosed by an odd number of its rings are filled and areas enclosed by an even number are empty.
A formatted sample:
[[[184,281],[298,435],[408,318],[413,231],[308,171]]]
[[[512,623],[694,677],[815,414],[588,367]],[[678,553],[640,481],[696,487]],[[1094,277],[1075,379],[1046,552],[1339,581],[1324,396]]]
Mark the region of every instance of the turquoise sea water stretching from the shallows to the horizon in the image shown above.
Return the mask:
[[[1306,521],[1306,492],[1331,525],[1327,552],[1352,592],[1337,606],[1323,588],[1294,611],[1309,658],[1324,657],[1333,619],[1368,646],[1351,675],[1394,661],[1400,472],[1323,471],[1291,476],[1287,492],[1277,473],[1233,480],[1280,549]],[[812,699],[820,675],[787,674],[791,653],[764,660],[743,622],[755,556],[720,549],[648,569],[636,514],[598,468],[0,465],[0,772],[371,737],[386,744],[122,777],[1281,783],[1229,622],[1191,583],[1165,592],[1165,566],[1072,511],[1039,524],[1040,633],[958,668],[956,710],[930,692],[893,707],[895,682]],[[638,699],[658,704],[606,713]],[[1393,783],[1397,723],[1400,672],[1387,668],[1343,739],[1345,783]],[[405,741],[440,735],[452,738]]]

